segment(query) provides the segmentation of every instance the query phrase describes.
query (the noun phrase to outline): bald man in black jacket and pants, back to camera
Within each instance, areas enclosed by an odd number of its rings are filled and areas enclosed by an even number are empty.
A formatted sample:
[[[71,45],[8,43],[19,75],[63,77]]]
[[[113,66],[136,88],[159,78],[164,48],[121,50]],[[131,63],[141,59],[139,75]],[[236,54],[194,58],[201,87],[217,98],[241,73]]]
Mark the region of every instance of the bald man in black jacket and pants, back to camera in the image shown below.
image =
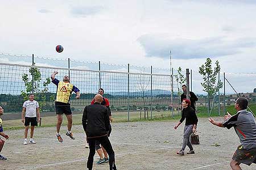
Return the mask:
[[[109,169],[116,170],[115,155],[108,138],[109,113],[108,108],[101,105],[102,96],[97,94],[94,97],[94,104],[87,105],[82,114],[82,127],[89,142],[90,152],[87,161],[87,168],[93,168],[93,156],[95,155],[95,141],[99,141],[109,154]]]

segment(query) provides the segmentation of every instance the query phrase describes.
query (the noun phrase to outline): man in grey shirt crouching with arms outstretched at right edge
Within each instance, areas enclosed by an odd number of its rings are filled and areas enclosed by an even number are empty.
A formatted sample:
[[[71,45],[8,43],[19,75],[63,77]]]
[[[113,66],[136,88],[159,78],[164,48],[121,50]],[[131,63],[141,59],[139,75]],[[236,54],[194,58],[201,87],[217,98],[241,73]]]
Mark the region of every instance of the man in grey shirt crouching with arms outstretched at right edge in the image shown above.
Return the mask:
[[[232,128],[236,131],[241,145],[237,147],[236,152],[230,162],[230,167],[233,170],[241,169],[240,164],[251,165],[256,163],[256,123],[251,112],[246,111],[248,101],[240,97],[234,104],[237,113],[231,116],[224,116],[223,122],[216,122],[211,117],[209,121],[216,126],[222,128]]]

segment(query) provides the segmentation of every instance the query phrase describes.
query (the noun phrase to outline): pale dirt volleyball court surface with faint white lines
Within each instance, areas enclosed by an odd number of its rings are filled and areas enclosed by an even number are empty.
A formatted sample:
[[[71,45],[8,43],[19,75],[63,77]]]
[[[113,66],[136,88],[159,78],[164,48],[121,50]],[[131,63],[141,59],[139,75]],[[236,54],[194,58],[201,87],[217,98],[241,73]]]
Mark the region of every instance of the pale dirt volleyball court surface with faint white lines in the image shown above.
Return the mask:
[[[55,118],[55,117],[54,117]],[[220,119],[218,119],[220,120]],[[193,145],[196,154],[177,156],[183,139],[183,124],[174,130],[175,121],[119,122],[112,124],[112,142],[118,169],[230,169],[229,162],[239,144],[233,129],[218,128],[207,118],[199,118],[200,145]],[[4,125],[3,125],[4,126]],[[75,140],[61,127],[63,143],[55,137],[55,127],[36,128],[36,144],[22,145],[23,129],[8,130],[10,139],[1,152],[8,160],[0,162],[0,169],[86,169],[89,149],[85,148],[85,134],[81,125],[73,126]],[[214,146],[214,144],[220,146]],[[188,151],[188,148],[185,150]],[[108,164],[93,169],[109,169]],[[242,169],[256,169],[241,165]]]

